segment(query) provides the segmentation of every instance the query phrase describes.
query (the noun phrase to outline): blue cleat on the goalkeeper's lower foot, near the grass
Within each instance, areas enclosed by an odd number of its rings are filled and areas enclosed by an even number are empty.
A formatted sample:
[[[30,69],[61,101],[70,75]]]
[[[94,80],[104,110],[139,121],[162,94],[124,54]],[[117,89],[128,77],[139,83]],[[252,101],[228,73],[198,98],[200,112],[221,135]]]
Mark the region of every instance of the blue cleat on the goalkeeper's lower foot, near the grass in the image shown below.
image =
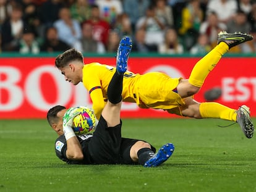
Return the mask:
[[[164,161],[169,159],[174,151],[173,143],[164,144],[163,147],[159,149],[159,151],[147,162],[145,162],[144,167],[156,167],[158,165],[163,164]]]

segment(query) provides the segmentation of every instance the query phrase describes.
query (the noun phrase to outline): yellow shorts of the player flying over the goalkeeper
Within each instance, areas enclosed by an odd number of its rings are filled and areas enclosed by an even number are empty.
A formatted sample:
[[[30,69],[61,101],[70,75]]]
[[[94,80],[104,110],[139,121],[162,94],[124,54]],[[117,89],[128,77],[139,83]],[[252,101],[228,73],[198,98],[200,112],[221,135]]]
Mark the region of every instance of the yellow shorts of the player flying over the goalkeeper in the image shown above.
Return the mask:
[[[141,108],[170,109],[181,115],[180,106],[185,102],[174,90],[182,78],[171,78],[160,72],[141,75],[137,81],[137,104]],[[174,109],[176,108],[176,109]]]

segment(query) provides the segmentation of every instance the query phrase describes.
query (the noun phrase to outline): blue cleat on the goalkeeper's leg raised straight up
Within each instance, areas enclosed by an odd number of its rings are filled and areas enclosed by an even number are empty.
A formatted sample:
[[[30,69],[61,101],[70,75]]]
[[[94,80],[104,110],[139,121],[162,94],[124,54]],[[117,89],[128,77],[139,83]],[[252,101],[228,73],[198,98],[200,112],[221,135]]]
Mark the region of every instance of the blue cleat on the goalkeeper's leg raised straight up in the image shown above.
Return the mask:
[[[128,36],[122,38],[117,49],[116,70],[122,74],[127,70],[127,62],[130,51],[132,50],[132,40]]]

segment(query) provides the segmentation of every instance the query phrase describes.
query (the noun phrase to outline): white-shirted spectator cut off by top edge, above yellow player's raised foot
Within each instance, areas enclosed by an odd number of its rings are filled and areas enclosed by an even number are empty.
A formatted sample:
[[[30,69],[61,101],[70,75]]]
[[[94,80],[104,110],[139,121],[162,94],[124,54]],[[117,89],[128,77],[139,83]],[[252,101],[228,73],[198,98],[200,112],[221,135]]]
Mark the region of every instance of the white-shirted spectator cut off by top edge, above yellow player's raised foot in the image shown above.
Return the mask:
[[[236,0],[211,0],[207,6],[207,14],[216,12],[219,22],[228,23],[233,20],[237,9]]]

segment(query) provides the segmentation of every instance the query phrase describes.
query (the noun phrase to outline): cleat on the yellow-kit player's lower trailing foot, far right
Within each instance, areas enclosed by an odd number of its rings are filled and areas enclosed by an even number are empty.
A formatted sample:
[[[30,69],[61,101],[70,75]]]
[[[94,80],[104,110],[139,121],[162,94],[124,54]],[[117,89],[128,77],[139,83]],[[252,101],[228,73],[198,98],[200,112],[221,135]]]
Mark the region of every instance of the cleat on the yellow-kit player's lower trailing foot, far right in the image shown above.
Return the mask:
[[[252,124],[252,120],[250,119],[249,107],[244,105],[237,109],[236,122],[242,128],[244,135],[247,138],[252,138],[252,136],[254,135],[254,125]]]

